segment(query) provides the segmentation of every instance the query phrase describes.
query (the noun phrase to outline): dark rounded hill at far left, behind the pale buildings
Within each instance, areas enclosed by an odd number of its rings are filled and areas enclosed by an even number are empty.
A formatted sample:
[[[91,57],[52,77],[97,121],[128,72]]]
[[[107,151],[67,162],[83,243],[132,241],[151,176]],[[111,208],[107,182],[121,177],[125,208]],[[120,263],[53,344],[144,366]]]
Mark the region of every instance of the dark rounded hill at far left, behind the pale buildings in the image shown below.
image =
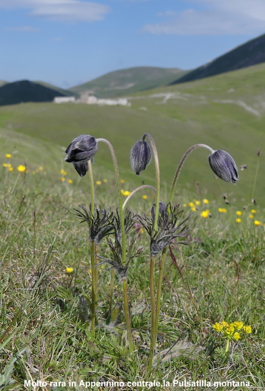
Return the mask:
[[[29,80],[7,83],[0,87],[0,106],[22,102],[51,102],[55,96],[69,95],[69,92],[62,93],[61,91]]]

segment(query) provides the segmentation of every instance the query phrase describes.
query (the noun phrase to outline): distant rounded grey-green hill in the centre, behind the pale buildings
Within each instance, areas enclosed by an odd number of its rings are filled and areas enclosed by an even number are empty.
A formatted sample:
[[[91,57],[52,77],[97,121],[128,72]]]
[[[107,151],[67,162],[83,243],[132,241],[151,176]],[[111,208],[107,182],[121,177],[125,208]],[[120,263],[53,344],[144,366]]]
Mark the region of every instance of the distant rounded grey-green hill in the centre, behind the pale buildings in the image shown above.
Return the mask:
[[[69,91],[79,94],[89,91],[99,98],[117,97],[165,86],[184,73],[178,68],[137,66],[107,73],[80,86],[69,88]]]

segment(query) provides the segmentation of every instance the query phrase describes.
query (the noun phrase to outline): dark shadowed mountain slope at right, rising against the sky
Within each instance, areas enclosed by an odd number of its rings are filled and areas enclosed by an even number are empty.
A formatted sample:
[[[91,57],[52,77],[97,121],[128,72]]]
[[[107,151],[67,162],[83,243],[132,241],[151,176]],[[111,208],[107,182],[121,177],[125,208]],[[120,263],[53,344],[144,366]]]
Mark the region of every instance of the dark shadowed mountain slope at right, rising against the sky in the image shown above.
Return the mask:
[[[204,77],[214,76],[264,62],[265,34],[230,50],[208,64],[187,72],[174,82],[169,83],[169,85],[203,79]]]

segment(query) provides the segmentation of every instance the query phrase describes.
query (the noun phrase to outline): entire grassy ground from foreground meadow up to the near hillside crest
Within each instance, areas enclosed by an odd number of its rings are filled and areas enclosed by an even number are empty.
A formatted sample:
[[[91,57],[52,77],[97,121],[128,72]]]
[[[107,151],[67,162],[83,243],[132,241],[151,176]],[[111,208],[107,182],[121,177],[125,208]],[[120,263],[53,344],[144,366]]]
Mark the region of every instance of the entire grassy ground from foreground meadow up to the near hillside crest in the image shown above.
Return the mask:
[[[46,103],[0,108],[0,390],[171,391],[182,390],[184,379],[211,383],[186,385],[186,390],[226,391],[232,387],[222,382],[232,381],[245,382],[237,390],[265,389],[265,168],[264,154],[257,156],[265,140],[264,71],[265,65],[256,65],[145,91],[131,97],[130,108]],[[65,148],[79,134],[107,138],[117,153],[125,200],[126,191],[155,184],[153,162],[139,177],[130,170],[130,148],[144,132],[157,145],[164,203],[179,160],[193,144],[224,149],[238,167],[247,166],[239,170],[236,186],[225,183],[214,177],[202,149],[192,152],[181,171],[173,203],[183,203],[183,218],[193,215],[188,244],[179,250],[171,245],[171,255],[166,252],[151,370],[150,239],[139,227],[129,233],[143,247],[128,267],[131,350],[116,274],[109,313],[107,264],[98,266],[97,324],[90,331],[89,229],[74,210],[89,208],[89,175],[80,178],[63,161]],[[93,175],[98,206],[115,212],[115,175],[102,143]],[[143,189],[127,206],[149,217],[153,202],[151,190]],[[106,239],[98,255],[111,257]],[[155,286],[159,262],[160,255]],[[232,338],[225,352],[227,338],[213,328],[222,321],[243,322],[252,331]],[[24,381],[47,385],[24,386]],[[85,388],[82,381],[120,386]],[[140,385],[144,381],[161,386]]]

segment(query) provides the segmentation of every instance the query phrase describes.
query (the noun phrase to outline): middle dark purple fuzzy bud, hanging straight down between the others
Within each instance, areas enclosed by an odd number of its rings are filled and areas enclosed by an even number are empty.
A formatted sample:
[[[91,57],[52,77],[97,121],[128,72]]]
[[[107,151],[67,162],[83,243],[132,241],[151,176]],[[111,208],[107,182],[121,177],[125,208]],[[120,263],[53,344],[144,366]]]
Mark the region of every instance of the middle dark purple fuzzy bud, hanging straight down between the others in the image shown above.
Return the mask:
[[[141,171],[151,161],[151,150],[146,141],[137,141],[131,149],[131,166],[136,175],[140,175]]]

